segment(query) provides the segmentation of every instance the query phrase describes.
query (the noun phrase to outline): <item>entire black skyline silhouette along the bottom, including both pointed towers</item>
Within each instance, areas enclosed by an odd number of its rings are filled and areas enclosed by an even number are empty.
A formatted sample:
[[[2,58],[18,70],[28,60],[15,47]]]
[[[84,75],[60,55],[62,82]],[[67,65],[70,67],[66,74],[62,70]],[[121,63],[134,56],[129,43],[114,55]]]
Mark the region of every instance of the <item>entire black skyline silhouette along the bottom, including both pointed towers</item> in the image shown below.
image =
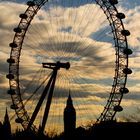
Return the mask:
[[[70,112],[69,112],[70,111]],[[72,105],[72,99],[69,95],[67,105],[64,110],[64,133],[53,137],[27,132],[17,129],[11,133],[11,124],[6,109],[4,121],[0,122],[0,140],[139,140],[140,139],[140,122],[116,122],[106,121],[99,124],[91,125],[86,129],[83,127],[76,128],[76,112]],[[69,120],[71,115],[72,119]],[[70,123],[69,123],[69,122]],[[53,132],[52,132],[53,133]]]

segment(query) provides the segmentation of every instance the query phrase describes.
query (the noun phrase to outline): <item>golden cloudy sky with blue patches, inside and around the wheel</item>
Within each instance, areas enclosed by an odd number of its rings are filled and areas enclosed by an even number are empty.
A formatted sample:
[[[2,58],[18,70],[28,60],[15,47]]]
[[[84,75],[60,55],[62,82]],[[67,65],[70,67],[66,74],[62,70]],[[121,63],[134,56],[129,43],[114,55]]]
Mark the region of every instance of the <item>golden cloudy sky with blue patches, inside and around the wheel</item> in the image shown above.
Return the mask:
[[[19,14],[26,10],[26,2],[0,1],[1,121],[6,107],[10,117],[15,119],[14,111],[10,110],[11,98],[7,95],[9,81],[6,74],[9,65],[6,60],[11,52],[9,43],[14,38],[13,28],[20,21]],[[55,4],[58,7],[55,7]],[[70,70],[61,69],[58,72],[51,117],[48,121],[62,123],[60,117],[66,98],[71,92],[78,114],[78,125],[84,125],[93,118],[93,121],[98,118],[111,91],[115,62],[114,42],[108,21],[94,2],[89,0],[86,3],[83,0],[59,3],[55,0],[55,4],[50,2],[38,12],[24,39],[19,69],[22,98],[26,102],[31,93],[51,73],[51,70],[42,68],[42,62],[69,61]],[[140,121],[140,1],[119,0],[117,9],[126,15],[123,22],[125,28],[131,32],[128,44],[133,50],[129,58],[129,67],[133,73],[128,76],[127,81],[130,93],[124,96],[121,103],[124,110],[117,114],[117,117],[120,121]],[[36,96],[26,103],[27,111],[29,108],[33,110],[33,104],[36,104],[44,86],[45,83]],[[43,107],[38,115],[38,121],[43,114]],[[56,108],[59,109],[56,111]],[[31,114],[31,109],[28,112]],[[11,121],[12,124],[14,119]]]

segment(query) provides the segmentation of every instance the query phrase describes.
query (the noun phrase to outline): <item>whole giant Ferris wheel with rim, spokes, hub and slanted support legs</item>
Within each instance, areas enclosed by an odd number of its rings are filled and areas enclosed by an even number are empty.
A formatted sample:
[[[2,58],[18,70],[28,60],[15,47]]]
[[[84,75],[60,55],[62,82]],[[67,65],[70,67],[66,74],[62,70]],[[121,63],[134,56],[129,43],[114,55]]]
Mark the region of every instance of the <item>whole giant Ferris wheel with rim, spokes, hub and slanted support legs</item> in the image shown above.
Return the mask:
[[[123,110],[132,50],[125,15],[117,4],[117,0],[27,2],[7,59],[11,109],[24,129],[62,126],[69,94],[77,126],[87,120],[113,120]]]

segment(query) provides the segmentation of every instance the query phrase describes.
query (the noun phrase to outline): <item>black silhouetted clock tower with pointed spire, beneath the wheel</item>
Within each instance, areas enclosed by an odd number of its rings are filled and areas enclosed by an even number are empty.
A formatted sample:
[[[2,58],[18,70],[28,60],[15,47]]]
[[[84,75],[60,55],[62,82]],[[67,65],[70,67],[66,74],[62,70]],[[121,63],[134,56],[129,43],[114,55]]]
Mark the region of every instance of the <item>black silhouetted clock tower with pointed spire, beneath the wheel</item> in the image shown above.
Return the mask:
[[[73,107],[71,96],[67,99],[67,104],[64,109],[64,134],[70,137],[74,134],[76,128],[76,111]]]

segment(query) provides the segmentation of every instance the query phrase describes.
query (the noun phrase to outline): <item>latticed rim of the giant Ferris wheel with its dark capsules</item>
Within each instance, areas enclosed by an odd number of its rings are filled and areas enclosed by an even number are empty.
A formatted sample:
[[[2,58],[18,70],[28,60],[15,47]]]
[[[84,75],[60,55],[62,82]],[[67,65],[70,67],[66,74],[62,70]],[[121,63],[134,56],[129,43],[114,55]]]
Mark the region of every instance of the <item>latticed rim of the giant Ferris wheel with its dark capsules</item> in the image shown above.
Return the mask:
[[[12,107],[18,116],[17,122],[21,123],[25,129],[27,128],[30,118],[27,114],[27,111],[25,110],[24,104],[22,102],[22,97],[20,95],[18,72],[19,60],[21,55],[22,43],[24,41],[24,37],[28,30],[28,27],[30,26],[34,16],[46,2],[47,0],[33,0],[27,2],[28,8],[23,14],[20,15],[21,20],[17,28],[14,29],[15,36],[13,42],[10,43],[11,54],[10,58],[8,59],[9,74],[7,75],[10,85],[9,94],[11,95],[13,102]],[[129,48],[127,44],[127,36],[130,33],[124,28],[122,22],[123,14],[119,13],[115,7],[115,4],[117,3],[115,3],[115,1],[113,0],[95,0],[95,2],[104,11],[107,20],[110,23],[116,48],[116,70],[114,81],[107,104],[105,105],[103,112],[97,119],[97,122],[100,122],[113,119],[115,114],[119,111],[117,109],[119,109],[120,107],[120,103],[123,98],[123,94],[125,93],[125,90],[127,90],[127,75],[131,74],[131,69],[128,68],[128,55],[130,55],[131,53],[129,53]],[[16,56],[13,56],[14,54],[16,54]],[[14,59],[14,57],[17,59]],[[123,63],[120,63],[120,61]],[[17,98],[19,102],[15,101],[15,98]],[[114,109],[115,107],[116,109]],[[21,114],[24,114],[24,116],[22,116]],[[34,125],[32,126],[32,129],[35,131],[37,130]]]

